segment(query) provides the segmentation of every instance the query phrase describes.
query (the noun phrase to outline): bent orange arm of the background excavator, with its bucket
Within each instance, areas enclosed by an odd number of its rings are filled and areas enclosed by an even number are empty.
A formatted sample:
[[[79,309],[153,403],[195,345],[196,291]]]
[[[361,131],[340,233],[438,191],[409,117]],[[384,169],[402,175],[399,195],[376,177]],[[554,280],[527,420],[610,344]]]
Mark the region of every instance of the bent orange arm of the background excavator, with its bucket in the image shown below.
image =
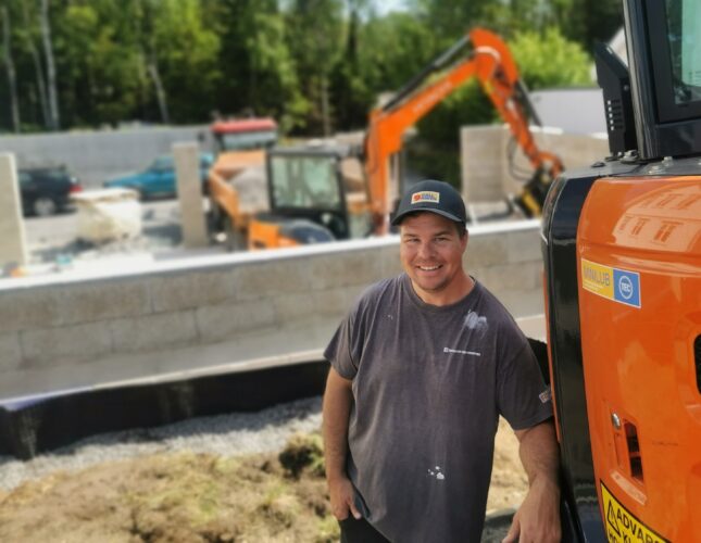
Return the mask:
[[[455,55],[468,46],[467,58],[453,62]],[[446,70],[451,62],[452,67],[441,77],[424,85],[430,75]],[[371,112],[365,138],[365,172],[376,233],[388,231],[391,205],[398,198],[398,182],[392,180],[390,162],[402,148],[403,134],[473,77],[509,125],[536,172],[516,199],[516,204],[528,216],[540,215],[547,187],[563,169],[562,163],[554,154],[538,148],[528,128],[529,116],[536,121],[537,116],[509,48],[497,35],[475,28],[431,61],[391,101]]]

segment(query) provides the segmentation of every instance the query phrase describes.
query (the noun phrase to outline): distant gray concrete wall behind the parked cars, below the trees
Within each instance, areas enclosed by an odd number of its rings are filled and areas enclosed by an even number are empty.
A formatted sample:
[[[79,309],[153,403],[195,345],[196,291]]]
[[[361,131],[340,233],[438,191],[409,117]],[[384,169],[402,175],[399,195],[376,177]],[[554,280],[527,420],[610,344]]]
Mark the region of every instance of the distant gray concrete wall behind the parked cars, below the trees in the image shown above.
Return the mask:
[[[129,172],[141,171],[173,143],[200,142],[211,150],[206,125],[135,128],[109,131],[1,136],[0,152],[12,152],[17,167],[65,165],[86,187]]]

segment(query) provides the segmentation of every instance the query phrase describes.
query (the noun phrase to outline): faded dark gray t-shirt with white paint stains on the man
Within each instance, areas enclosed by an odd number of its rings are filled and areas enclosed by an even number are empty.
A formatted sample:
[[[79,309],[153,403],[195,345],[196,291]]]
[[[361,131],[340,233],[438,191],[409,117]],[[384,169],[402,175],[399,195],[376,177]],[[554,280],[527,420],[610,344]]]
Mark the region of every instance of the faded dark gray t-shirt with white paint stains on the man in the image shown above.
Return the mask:
[[[447,306],[406,275],[365,291],[324,356],[352,380],[348,475],[365,518],[393,542],[478,542],[499,415],[552,416],[528,342],[479,282]]]

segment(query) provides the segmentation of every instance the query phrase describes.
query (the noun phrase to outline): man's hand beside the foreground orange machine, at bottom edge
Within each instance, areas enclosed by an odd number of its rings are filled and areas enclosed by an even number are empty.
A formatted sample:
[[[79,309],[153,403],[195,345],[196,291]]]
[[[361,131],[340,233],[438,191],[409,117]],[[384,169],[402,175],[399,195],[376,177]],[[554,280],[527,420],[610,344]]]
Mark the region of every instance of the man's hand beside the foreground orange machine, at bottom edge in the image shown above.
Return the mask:
[[[502,543],[559,543],[560,489],[552,481],[534,481],[514,515]]]

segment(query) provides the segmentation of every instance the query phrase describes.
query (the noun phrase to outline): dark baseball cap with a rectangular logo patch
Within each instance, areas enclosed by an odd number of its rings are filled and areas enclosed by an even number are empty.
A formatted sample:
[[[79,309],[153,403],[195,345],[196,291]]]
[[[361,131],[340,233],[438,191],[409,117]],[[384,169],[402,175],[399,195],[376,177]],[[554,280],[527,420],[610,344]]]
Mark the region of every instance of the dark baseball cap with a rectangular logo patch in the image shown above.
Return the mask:
[[[399,225],[405,215],[418,211],[436,213],[463,225],[467,223],[465,202],[460,192],[445,181],[427,179],[412,185],[399,202],[392,225]]]

